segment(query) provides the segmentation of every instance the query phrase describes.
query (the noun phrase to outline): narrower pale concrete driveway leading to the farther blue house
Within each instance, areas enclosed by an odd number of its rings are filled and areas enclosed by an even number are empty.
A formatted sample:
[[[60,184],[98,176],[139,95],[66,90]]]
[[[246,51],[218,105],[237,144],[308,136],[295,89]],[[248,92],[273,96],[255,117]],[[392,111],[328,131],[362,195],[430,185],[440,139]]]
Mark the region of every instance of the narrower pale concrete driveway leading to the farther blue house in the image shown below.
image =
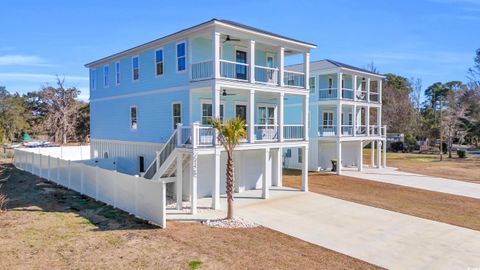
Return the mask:
[[[373,180],[377,182],[480,199],[480,184],[402,172],[393,167],[381,169],[364,168],[363,172],[359,172],[356,169],[353,170],[347,168],[342,171],[342,174],[345,176]]]

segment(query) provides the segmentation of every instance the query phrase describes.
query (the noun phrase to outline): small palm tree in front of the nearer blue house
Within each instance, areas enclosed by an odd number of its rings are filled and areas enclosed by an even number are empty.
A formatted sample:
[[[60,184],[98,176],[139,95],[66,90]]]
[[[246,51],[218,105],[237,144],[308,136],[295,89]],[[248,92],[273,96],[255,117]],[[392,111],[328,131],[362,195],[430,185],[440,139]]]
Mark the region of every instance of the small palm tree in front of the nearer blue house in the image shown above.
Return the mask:
[[[221,119],[212,121],[212,126],[218,131],[218,141],[227,152],[227,219],[233,218],[233,188],[235,186],[233,150],[240,140],[247,137],[245,121],[241,118],[231,118],[224,123]]]

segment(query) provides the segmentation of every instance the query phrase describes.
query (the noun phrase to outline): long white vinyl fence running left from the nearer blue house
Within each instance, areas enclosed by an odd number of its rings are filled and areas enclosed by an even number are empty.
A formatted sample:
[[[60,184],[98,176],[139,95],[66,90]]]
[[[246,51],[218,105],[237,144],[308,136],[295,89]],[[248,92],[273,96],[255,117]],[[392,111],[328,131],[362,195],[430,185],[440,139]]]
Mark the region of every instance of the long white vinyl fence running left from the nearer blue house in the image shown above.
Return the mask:
[[[49,148],[37,152],[45,149]],[[165,228],[165,183],[30,150],[32,149],[15,149],[15,167]],[[47,151],[52,151],[53,154],[56,150]]]

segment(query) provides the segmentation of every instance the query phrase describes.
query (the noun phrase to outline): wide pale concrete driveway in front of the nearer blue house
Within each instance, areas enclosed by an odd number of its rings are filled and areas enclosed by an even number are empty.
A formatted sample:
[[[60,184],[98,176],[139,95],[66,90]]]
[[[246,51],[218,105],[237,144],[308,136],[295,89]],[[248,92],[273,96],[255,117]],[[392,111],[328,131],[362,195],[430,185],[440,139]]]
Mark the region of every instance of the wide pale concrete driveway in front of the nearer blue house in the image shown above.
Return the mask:
[[[236,216],[375,265],[480,267],[479,231],[290,189],[272,190],[268,200],[258,199],[260,191],[238,196]],[[225,203],[222,199],[222,207]],[[208,206],[210,199],[199,204]],[[199,213],[197,218],[224,216],[224,211]]]

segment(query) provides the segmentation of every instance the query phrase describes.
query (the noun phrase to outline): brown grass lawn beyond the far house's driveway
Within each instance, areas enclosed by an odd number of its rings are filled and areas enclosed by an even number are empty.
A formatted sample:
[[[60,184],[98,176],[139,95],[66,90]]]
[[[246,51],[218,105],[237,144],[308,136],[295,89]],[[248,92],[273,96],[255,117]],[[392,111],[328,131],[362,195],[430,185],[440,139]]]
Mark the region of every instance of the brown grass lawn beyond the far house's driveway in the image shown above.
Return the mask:
[[[370,149],[364,150],[364,163],[370,164]],[[458,158],[452,153],[452,158],[438,155],[387,153],[387,166],[396,167],[401,171],[420,173],[430,176],[451,178],[456,180],[480,183],[480,159]]]

